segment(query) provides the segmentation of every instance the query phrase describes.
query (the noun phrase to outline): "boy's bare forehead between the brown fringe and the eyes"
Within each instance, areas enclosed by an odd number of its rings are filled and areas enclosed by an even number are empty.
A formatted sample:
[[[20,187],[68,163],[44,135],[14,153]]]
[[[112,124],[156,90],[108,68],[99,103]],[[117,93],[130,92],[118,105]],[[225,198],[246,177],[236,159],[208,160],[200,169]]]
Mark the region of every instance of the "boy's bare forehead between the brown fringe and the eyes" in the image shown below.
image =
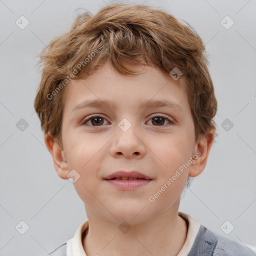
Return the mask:
[[[143,105],[149,107],[172,103],[181,110],[189,108],[187,93],[181,78],[175,81],[151,66],[132,66],[132,70],[142,72],[135,75],[119,73],[106,62],[84,79],[71,80],[65,88],[64,107],[68,111],[87,105],[109,104],[112,108]],[[71,109],[72,108],[72,109]]]

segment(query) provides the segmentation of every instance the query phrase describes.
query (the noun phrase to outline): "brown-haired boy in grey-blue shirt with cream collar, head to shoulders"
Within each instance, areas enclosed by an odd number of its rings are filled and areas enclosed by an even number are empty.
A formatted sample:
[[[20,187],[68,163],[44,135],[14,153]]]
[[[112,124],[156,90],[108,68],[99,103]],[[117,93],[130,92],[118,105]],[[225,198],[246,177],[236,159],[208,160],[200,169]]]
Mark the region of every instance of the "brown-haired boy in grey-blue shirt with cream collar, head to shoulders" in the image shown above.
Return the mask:
[[[51,255],[251,255],[178,211],[206,165],[217,109],[190,26],[149,6],[109,5],[79,15],[40,57],[45,144],[88,217]]]

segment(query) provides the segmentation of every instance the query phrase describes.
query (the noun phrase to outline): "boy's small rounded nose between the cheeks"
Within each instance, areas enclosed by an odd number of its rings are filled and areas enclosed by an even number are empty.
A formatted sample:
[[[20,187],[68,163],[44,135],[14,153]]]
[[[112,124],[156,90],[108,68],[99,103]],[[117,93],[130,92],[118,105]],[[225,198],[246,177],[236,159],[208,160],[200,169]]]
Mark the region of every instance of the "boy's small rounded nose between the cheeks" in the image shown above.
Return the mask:
[[[126,131],[117,128],[110,153],[113,157],[141,158],[145,154],[145,144],[141,134],[135,131],[133,125]]]

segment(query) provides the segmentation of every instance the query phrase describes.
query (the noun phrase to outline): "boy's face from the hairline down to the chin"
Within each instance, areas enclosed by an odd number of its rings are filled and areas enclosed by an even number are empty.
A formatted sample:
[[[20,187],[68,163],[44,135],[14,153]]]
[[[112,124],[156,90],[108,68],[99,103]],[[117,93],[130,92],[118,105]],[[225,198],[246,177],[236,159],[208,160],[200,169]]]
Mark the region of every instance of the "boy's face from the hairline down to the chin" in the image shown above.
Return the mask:
[[[138,223],[170,207],[176,210],[191,166],[183,168],[183,173],[179,171],[181,174],[160,196],[154,194],[164,184],[166,187],[169,178],[197,150],[185,90],[154,67],[136,68],[144,72],[126,76],[106,63],[88,78],[66,85],[62,142],[68,170],[58,174],[66,178],[71,169],[79,173],[73,185],[88,216],[96,213],[116,222]],[[116,107],[74,110],[88,99],[106,100]],[[183,111],[167,106],[139,107],[147,100],[170,101],[179,104]],[[85,117],[92,114],[101,119],[92,118],[85,124]],[[153,118],[155,115],[173,123]],[[151,180],[137,188],[117,188],[103,179],[117,170],[136,170]]]

